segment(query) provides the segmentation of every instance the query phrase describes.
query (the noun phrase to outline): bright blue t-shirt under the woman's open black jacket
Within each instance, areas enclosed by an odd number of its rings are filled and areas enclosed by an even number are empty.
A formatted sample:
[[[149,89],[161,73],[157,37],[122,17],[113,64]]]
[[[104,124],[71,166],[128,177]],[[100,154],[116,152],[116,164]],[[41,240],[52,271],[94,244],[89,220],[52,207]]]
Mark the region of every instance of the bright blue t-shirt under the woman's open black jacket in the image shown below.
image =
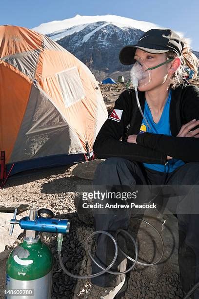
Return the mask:
[[[142,124],[141,124],[140,130],[139,130],[139,134],[144,133],[144,132],[149,132],[149,133],[164,134],[164,135],[171,136],[170,123],[169,123],[170,102],[171,102],[171,90],[169,91],[169,95],[168,95],[167,101],[164,105],[164,109],[162,111],[159,122],[158,122],[158,124],[156,124],[153,121],[151,110],[150,110],[147,102],[145,101],[144,116],[145,116],[150,128],[147,126],[145,120],[142,119]],[[161,172],[164,172],[164,171],[172,172],[179,166],[182,166],[183,164],[185,164],[185,163],[179,159],[168,160],[166,167],[165,167],[165,165],[162,165],[162,164],[143,163],[144,167],[153,169],[155,171],[161,171]]]

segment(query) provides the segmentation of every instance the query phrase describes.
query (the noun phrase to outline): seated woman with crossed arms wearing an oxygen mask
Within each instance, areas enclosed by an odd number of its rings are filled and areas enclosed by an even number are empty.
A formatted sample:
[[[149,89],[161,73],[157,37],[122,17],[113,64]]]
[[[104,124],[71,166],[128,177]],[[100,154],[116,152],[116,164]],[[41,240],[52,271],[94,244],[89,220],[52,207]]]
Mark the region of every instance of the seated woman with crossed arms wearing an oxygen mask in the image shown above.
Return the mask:
[[[197,58],[172,30],[152,29],[137,44],[124,47],[119,59],[122,64],[137,62],[146,74],[138,76],[137,82],[144,117],[135,90],[122,92],[94,143],[96,156],[106,160],[98,165],[93,185],[104,186],[103,190],[113,185],[135,190],[136,185],[199,184],[199,89],[183,80],[184,66],[197,77]],[[120,141],[125,128],[127,135]],[[172,211],[179,222],[179,269],[185,293],[199,281],[197,204],[196,196],[187,196]],[[190,205],[198,214],[193,214],[193,210],[187,214]],[[96,230],[112,235],[118,229],[127,230],[128,222],[127,212],[95,214]],[[113,256],[112,241],[99,235],[96,257],[108,265]],[[93,273],[101,270],[95,265],[92,269]],[[119,254],[113,269],[120,272],[126,269],[124,256]],[[88,295],[95,294],[96,298],[119,298],[126,287],[125,275],[105,274],[92,282]],[[194,296],[199,299],[199,289]]]

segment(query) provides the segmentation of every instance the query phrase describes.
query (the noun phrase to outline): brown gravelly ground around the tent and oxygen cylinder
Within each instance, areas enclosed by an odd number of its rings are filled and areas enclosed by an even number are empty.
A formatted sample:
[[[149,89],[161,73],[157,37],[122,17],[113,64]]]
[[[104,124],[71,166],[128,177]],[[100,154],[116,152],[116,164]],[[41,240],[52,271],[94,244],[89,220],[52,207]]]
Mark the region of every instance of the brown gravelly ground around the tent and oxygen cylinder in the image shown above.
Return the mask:
[[[198,82],[196,84],[198,85]],[[125,85],[100,85],[100,89],[106,106],[110,107],[113,106],[120,92],[125,89]],[[77,275],[88,275],[91,272],[91,260],[86,253],[85,240],[94,231],[94,226],[92,223],[85,224],[80,221],[74,205],[74,199],[78,195],[78,186],[90,185],[91,182],[91,180],[73,176],[70,166],[64,166],[15,175],[8,180],[6,187],[0,190],[0,201],[2,203],[35,203],[39,207],[51,209],[57,217],[67,218],[73,222],[70,233],[64,236],[62,259],[65,267]],[[42,234],[41,237],[50,246],[55,258],[52,299],[79,298],[74,295],[76,294],[77,280],[68,277],[60,269],[56,236],[53,234]],[[20,240],[21,236],[14,246]],[[11,251],[11,247],[6,247],[6,250],[0,254],[0,296],[2,296],[2,290],[4,289],[6,256]],[[94,251],[94,242],[91,243],[91,247]],[[137,267],[127,277],[128,288],[122,299],[179,299],[183,297],[179,283],[179,274],[169,268],[164,270],[164,273],[162,273],[157,281],[149,279]],[[85,282],[83,280],[80,284],[85,284]],[[89,283],[84,288],[84,294],[87,289],[89,289]],[[3,296],[0,298],[3,298]]]

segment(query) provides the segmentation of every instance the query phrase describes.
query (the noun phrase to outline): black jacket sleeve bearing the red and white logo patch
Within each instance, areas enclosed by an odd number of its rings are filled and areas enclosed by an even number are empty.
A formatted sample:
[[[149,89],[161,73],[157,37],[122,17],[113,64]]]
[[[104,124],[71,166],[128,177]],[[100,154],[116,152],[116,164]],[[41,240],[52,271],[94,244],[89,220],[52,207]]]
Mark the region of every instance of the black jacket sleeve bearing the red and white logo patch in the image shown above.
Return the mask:
[[[120,120],[109,118],[105,121],[95,140],[93,149],[98,158],[121,157],[130,161],[165,164],[166,155],[154,149],[120,141],[124,128],[130,122],[133,98],[128,90],[121,93],[115,102],[114,111],[121,115]]]

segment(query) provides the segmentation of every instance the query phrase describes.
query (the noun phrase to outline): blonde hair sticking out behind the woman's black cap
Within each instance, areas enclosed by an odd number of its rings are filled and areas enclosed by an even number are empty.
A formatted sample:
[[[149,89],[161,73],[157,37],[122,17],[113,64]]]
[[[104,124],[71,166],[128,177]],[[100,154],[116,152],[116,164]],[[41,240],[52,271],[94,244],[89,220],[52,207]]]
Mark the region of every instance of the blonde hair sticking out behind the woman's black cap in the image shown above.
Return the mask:
[[[183,83],[183,79],[187,75],[187,72],[185,71],[186,67],[194,71],[192,79],[196,79],[198,75],[198,65],[199,65],[198,58],[194,53],[192,53],[191,48],[186,39],[181,39],[181,42],[183,43],[181,56],[179,56],[177,53],[173,51],[169,51],[165,53],[167,60],[176,57],[179,57],[181,60],[181,64],[179,68],[175,71],[175,73],[171,78],[170,87],[173,89],[175,89],[178,85]]]

